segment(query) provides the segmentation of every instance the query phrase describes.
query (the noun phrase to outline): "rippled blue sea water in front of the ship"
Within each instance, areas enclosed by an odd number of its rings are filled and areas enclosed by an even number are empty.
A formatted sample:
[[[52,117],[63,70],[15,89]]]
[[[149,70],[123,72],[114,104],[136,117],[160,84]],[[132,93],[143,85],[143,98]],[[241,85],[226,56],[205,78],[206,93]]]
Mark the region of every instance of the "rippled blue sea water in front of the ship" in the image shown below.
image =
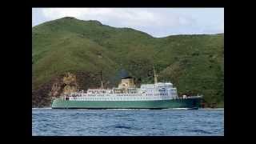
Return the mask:
[[[33,136],[223,136],[224,110],[32,110]]]

